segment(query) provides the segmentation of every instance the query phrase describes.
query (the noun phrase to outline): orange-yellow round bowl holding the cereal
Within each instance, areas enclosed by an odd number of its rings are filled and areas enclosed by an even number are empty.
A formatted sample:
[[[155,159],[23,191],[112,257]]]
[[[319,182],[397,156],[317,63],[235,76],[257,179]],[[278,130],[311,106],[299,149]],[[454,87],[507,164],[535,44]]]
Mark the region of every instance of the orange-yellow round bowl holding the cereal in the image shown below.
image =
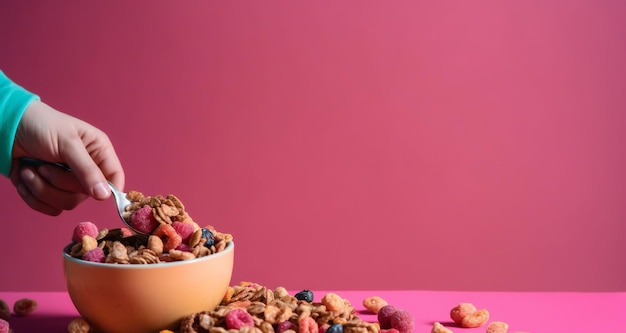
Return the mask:
[[[155,333],[213,310],[230,284],[235,245],[206,257],[148,265],[94,263],[63,251],[67,291],[96,331]]]

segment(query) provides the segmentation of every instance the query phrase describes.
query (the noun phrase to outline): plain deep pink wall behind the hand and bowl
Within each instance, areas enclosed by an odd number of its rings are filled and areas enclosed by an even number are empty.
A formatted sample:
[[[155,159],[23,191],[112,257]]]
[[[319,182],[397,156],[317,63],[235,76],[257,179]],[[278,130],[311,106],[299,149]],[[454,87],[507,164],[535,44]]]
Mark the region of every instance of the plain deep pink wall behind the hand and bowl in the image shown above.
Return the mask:
[[[3,1],[0,68],[289,289],[626,290],[626,2]],[[74,225],[0,181],[0,290]],[[175,283],[175,282],[173,282]]]

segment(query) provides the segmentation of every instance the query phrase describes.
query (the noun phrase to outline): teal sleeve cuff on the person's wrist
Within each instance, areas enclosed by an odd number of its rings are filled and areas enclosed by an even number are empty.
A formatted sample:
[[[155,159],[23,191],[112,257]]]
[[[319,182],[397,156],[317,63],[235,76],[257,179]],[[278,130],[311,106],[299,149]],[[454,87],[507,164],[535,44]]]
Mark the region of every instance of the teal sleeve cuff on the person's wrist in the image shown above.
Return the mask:
[[[17,125],[34,100],[39,97],[15,84],[0,70],[0,173],[5,176],[11,172]]]

